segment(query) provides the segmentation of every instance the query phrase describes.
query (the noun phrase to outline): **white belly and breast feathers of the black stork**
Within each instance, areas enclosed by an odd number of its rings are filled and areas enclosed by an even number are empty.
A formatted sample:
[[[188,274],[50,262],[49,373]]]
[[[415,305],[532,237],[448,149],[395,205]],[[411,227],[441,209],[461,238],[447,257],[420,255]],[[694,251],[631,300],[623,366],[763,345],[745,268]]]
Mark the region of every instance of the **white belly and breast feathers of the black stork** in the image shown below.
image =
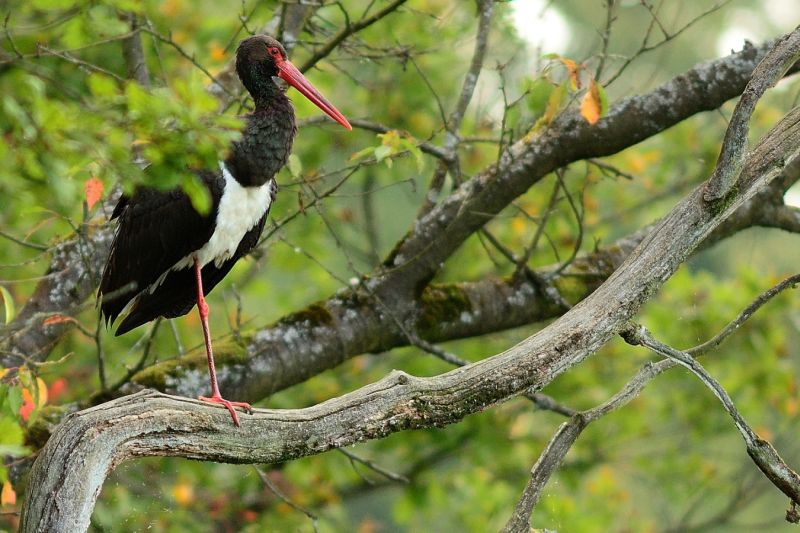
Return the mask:
[[[170,271],[193,267],[195,257],[201,267],[212,261],[217,267],[222,266],[236,252],[245,233],[253,229],[269,209],[275,194],[273,180],[260,187],[243,187],[230,173],[224,161],[219,162],[219,168],[225,178],[225,188],[219,201],[216,226],[211,239],[202,248],[187,255],[164,272],[149,287],[150,293],[164,282]]]

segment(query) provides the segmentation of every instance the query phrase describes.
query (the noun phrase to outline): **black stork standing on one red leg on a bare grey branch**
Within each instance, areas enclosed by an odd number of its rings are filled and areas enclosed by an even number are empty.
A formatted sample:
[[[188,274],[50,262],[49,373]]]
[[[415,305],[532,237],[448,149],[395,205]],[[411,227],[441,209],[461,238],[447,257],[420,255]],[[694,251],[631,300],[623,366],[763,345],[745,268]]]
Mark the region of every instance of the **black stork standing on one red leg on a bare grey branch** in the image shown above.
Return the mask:
[[[219,168],[196,170],[208,187],[212,208],[201,215],[183,190],[139,187],[123,195],[111,218],[119,219],[99,297],[106,323],[124,319],[122,335],[157,317],[174,318],[194,304],[200,313],[211,377],[211,396],[200,399],[225,406],[239,425],[235,407],[244,402],[222,397],[217,384],[208,305],[204,295],[257,243],[275,198],[275,174],[285,164],[297,128],[294,109],[274,76],[285,80],[345,128],[347,119],[286,58],[272,37],[243,40],[236,51],[236,73],[253,97],[239,141]]]

